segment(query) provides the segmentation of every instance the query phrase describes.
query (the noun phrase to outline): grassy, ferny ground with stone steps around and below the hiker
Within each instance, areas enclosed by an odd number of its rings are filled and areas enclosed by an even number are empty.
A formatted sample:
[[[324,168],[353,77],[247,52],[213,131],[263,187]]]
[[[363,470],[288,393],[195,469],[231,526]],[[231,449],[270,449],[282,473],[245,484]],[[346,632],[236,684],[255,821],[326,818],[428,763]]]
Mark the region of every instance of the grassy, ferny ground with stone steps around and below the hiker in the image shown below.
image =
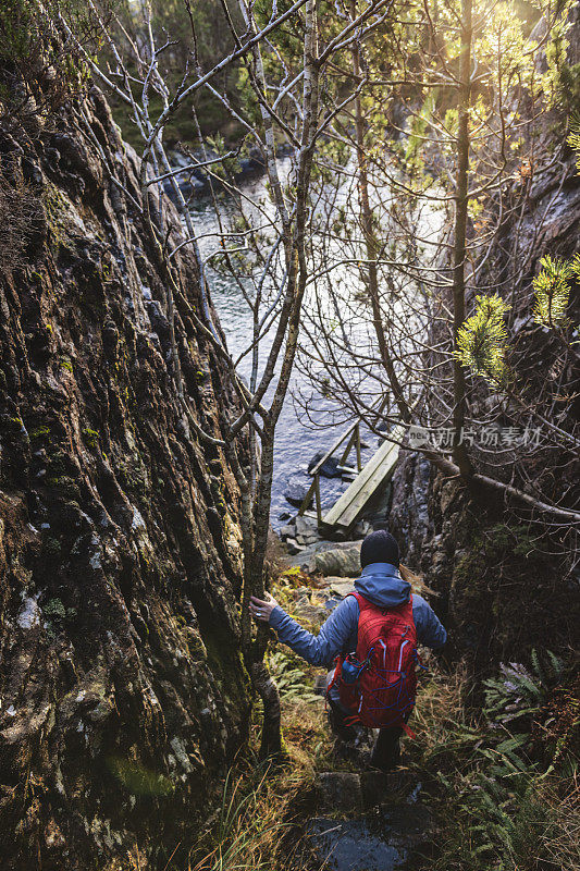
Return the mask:
[[[275,596],[316,630],[335,597],[324,578],[281,572]],[[416,740],[400,770],[360,771],[336,751],[322,672],[272,643],[287,762],[258,762],[260,710],[249,755],[224,784],[223,800],[188,871],[576,871],[580,868],[578,678],[555,657],[510,664],[469,708],[461,663],[427,654]],[[372,736],[369,736],[372,740]]]

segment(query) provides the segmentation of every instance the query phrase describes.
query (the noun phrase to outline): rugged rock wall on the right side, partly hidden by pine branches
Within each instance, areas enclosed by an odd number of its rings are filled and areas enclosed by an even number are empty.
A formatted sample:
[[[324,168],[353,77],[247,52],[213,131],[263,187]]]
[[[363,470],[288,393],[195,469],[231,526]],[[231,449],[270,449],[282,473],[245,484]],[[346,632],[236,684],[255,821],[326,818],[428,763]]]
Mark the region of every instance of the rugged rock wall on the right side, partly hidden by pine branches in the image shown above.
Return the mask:
[[[569,60],[577,64],[578,7],[571,21]],[[555,144],[565,142],[564,121],[562,112],[552,111],[539,122],[538,164],[545,163],[548,169],[533,173],[525,186],[520,182],[511,186],[508,193],[514,204],[523,207],[515,209],[501,226],[480,281],[489,289],[497,287],[513,307],[509,361],[520,373],[519,387],[525,383],[528,397],[545,397],[546,384],[557,394],[558,379],[569,385],[570,402],[563,405],[554,395],[552,412],[557,415],[554,419],[569,429],[578,415],[573,354],[568,355],[564,371],[562,347],[533,322],[532,315],[532,278],[539,272],[540,259],[546,254],[570,258],[578,252],[580,176],[576,157],[568,150],[559,160],[552,159]],[[506,281],[514,262],[523,270],[515,297]],[[577,290],[572,289],[569,312],[575,320]],[[484,420],[490,408],[501,406],[502,397],[482,384],[477,390],[471,396],[474,417]],[[509,426],[514,421],[506,416],[497,422]],[[578,496],[577,461],[573,451],[564,453],[554,444],[532,456],[526,473],[548,498],[568,493],[567,504],[572,505],[575,493]],[[481,458],[477,462],[478,469],[509,480],[508,464],[486,468]],[[526,480],[516,482],[527,488]],[[573,568],[577,537],[570,530],[556,526],[550,530],[542,523],[531,523],[517,503],[489,493],[480,492],[476,499],[460,481],[408,451],[402,454],[394,475],[388,525],[399,538],[405,562],[420,568],[435,592],[432,603],[451,630],[451,647],[466,658],[473,676],[489,674],[498,661],[527,659],[534,648],[553,650],[565,659],[577,649],[580,576]]]

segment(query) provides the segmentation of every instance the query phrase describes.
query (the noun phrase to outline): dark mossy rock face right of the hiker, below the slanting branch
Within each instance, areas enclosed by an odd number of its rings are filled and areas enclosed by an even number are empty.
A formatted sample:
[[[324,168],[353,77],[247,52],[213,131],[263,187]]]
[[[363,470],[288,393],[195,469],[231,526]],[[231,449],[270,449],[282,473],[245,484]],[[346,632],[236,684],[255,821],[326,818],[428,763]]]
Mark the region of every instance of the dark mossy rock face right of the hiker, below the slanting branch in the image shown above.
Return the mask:
[[[442,474],[421,475],[407,453],[393,478],[390,529],[403,562],[423,574],[427,598],[448,631],[448,650],[468,665],[473,700],[499,662],[542,648],[572,649],[580,621],[566,554],[493,502],[478,501]],[[557,550],[556,550],[557,552]]]

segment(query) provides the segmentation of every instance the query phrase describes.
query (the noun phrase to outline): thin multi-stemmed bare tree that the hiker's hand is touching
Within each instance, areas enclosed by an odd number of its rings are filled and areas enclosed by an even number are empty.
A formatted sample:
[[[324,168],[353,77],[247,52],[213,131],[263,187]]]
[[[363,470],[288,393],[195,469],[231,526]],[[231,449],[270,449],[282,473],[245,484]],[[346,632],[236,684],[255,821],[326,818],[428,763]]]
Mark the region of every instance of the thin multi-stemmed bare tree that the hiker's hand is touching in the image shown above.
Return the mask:
[[[274,440],[280,414],[288,393],[300,335],[305,293],[312,272],[309,241],[314,210],[311,203],[311,175],[321,137],[325,135],[340,109],[321,106],[321,81],[332,66],[334,56],[348,50],[355,39],[365,39],[388,14],[386,0],[371,0],[358,15],[341,21],[321,38],[318,0],[296,0],[283,11],[275,4],[258,10],[238,0],[236,14],[222,4],[223,26],[231,35],[232,50],[211,69],[202,69],[197,51],[198,36],[188,0],[190,45],[188,62],[177,85],[163,75],[162,59],[172,50],[171,34],[161,39],[155,33],[151,11],[143,4],[137,35],[116,20],[114,28],[102,25],[102,38],[109,63],[99,65],[86,56],[94,77],[124,105],[139,133],[139,199],[132,196],[115,167],[107,167],[112,183],[127,208],[144,222],[152,250],[164,278],[165,311],[171,342],[171,371],[184,415],[184,429],[192,439],[211,445],[227,458],[240,492],[240,529],[244,584],[240,597],[242,648],[252,685],[263,702],[262,753],[276,755],[282,749],[280,700],[268,673],[263,655],[268,630],[252,629],[250,597],[263,597],[268,582],[266,552],[270,524],[271,488],[274,464]],[[98,19],[95,0],[88,4]],[[244,22],[238,33],[236,21]],[[65,17],[62,26],[67,27]],[[276,44],[281,28],[291,24],[300,35],[301,52],[284,57]],[[224,69],[239,64],[246,72],[252,107],[256,112],[233,107],[229,94],[221,90],[219,75]],[[173,79],[172,79],[173,81]],[[258,148],[268,179],[268,201],[252,199],[230,171],[235,151],[217,154],[205,148],[194,155],[186,147],[190,162],[172,165],[163,133],[175,112],[193,106],[197,93],[208,91],[246,133]],[[155,107],[158,107],[157,109]],[[159,108],[160,107],[160,108]],[[199,124],[193,109],[193,126],[198,138]],[[98,139],[87,123],[82,134],[104,160]],[[284,144],[291,151],[287,177],[281,174],[277,148]],[[217,249],[203,252],[203,240],[196,228],[187,195],[180,184],[184,174],[203,170],[211,181],[217,207]],[[176,232],[164,206],[163,189],[169,187],[182,219],[185,238]],[[220,210],[220,192],[225,192],[236,206],[230,224]],[[197,282],[201,309],[196,310],[195,292],[182,287],[175,267],[176,255],[189,248],[197,265]],[[233,355],[214,323],[211,305],[211,265],[219,263],[237,283],[240,300],[249,307],[252,336],[249,345]],[[136,300],[138,311],[138,300]],[[184,322],[190,320],[198,339],[209,343],[222,360],[239,412],[224,408],[220,431],[211,432],[201,422],[192,402],[184,376]],[[249,382],[239,375],[240,364],[250,358]],[[247,445],[256,445],[256,454]]]

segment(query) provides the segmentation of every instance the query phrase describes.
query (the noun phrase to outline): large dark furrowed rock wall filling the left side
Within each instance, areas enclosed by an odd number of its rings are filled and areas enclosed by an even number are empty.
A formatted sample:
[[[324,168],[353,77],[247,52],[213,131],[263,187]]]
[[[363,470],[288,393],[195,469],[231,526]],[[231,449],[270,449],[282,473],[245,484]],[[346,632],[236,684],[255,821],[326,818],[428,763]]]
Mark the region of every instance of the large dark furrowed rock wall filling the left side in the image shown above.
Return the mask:
[[[95,87],[51,130],[0,135],[2,869],[162,867],[248,722],[238,493],[184,422],[155,257],[90,137],[139,201]],[[177,327],[219,434],[234,398]]]

